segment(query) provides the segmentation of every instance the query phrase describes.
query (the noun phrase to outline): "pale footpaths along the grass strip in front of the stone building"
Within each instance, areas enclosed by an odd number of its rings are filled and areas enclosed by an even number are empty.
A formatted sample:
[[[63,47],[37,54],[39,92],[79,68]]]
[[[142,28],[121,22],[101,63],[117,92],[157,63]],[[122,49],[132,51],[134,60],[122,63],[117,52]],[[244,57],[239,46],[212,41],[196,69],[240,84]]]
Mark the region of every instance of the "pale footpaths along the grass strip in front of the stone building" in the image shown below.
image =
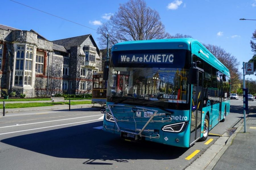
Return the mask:
[[[71,100],[71,101],[88,101],[89,99],[83,100]],[[46,101],[5,101],[6,103],[49,103],[50,100]],[[93,104],[82,104],[82,105],[70,105],[70,109],[77,109],[77,108],[89,108],[92,107]],[[101,107],[100,104],[94,104],[96,107]],[[67,110],[69,109],[69,105],[53,105],[53,106],[43,106],[43,107],[25,107],[25,108],[14,108],[14,109],[5,109],[5,115],[14,112],[26,112],[26,111],[40,111],[40,110]],[[3,109],[0,111],[0,116],[3,116]]]

